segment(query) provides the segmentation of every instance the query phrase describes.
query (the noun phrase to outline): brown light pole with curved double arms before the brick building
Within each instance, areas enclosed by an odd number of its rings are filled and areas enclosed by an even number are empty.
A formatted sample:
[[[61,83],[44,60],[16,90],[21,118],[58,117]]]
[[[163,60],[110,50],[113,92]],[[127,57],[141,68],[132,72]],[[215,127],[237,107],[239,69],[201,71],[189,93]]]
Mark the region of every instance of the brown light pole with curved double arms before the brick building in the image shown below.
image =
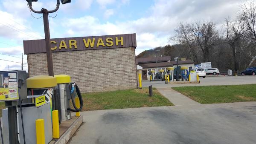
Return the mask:
[[[48,11],[47,9],[42,8],[41,11],[35,11],[32,8],[32,2],[37,2],[38,0],[26,0],[29,4],[29,9],[31,9],[32,12],[35,12],[37,14],[43,14],[44,19],[44,36],[45,36],[45,48],[46,48],[46,55],[47,55],[47,67],[48,67],[48,75],[54,76],[53,72],[53,65],[52,65],[52,51],[50,48],[50,30],[49,30],[49,20],[48,20],[48,14],[58,11],[60,6],[60,0],[57,0],[57,6],[54,10]],[[70,3],[71,0],[61,0],[62,4]]]

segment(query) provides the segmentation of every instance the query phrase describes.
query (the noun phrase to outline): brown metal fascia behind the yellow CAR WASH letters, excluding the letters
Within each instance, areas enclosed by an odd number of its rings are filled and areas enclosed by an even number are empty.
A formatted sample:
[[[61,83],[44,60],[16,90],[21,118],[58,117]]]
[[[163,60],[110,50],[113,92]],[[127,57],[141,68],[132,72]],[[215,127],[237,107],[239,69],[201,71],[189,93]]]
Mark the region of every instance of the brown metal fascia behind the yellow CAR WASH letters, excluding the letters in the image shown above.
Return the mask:
[[[113,40],[113,46],[107,46],[106,45],[106,38],[112,38]],[[123,37],[123,45],[121,45],[121,43],[118,43],[118,46],[116,45],[116,37],[118,38],[118,40],[120,40],[120,37]],[[86,48],[84,45],[84,41],[91,39],[91,41],[93,41],[93,38],[95,38],[95,42],[94,42],[94,46]],[[97,42],[98,39],[102,38],[103,43],[105,44],[105,46],[99,45],[98,47]],[[65,48],[61,48],[59,49],[60,43],[61,41],[64,40],[66,45],[67,45],[67,49]],[[72,46],[72,48],[70,49],[69,47],[69,40],[76,40],[76,46],[77,48],[74,48],[74,46]],[[57,44],[51,43],[51,47],[55,47],[57,46],[57,49],[52,50],[52,52],[66,52],[66,51],[79,51],[79,50],[93,50],[93,49],[113,49],[113,48],[124,48],[124,47],[137,47],[137,42],[136,42],[136,33],[134,34],[123,34],[123,35],[104,35],[104,36],[91,36],[91,37],[64,37],[64,38],[52,38],[51,41],[55,41]],[[88,41],[87,41],[88,42]],[[24,54],[32,54],[32,53],[45,53],[46,49],[45,49],[45,40],[23,40],[23,48],[24,48]]]

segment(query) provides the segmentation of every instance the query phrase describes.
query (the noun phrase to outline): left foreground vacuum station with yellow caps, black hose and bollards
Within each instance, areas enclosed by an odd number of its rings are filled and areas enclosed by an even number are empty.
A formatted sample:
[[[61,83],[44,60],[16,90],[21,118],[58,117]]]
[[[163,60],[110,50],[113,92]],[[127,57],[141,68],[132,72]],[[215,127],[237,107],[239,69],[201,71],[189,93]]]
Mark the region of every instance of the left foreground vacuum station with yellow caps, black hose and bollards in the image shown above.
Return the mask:
[[[3,144],[48,144],[53,138],[56,142],[61,123],[71,121],[71,112],[80,112],[83,107],[79,87],[69,75],[27,79],[26,71],[0,72],[0,101],[7,107],[0,121]]]

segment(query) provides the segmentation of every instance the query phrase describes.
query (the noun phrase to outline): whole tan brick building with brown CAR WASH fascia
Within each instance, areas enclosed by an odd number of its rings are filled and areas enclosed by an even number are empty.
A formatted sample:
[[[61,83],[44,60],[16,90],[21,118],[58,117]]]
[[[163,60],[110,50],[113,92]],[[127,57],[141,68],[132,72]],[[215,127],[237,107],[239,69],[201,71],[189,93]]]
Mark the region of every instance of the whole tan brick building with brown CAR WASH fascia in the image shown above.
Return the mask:
[[[54,75],[70,75],[81,92],[137,87],[136,34],[51,39]],[[24,40],[29,77],[48,75],[45,40]]]

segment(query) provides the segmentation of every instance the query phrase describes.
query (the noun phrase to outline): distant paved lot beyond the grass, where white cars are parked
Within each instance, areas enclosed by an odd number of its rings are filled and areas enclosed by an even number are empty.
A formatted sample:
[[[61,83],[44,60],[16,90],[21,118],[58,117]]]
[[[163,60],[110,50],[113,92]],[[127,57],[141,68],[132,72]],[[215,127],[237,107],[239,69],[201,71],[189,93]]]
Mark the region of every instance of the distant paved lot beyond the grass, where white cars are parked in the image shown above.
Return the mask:
[[[175,86],[212,86],[212,85],[239,85],[239,84],[256,84],[256,76],[212,76],[207,75],[206,78],[199,78],[200,84],[165,84],[164,81],[143,81],[142,86],[148,87],[175,87]]]

